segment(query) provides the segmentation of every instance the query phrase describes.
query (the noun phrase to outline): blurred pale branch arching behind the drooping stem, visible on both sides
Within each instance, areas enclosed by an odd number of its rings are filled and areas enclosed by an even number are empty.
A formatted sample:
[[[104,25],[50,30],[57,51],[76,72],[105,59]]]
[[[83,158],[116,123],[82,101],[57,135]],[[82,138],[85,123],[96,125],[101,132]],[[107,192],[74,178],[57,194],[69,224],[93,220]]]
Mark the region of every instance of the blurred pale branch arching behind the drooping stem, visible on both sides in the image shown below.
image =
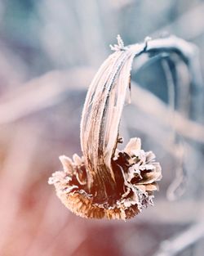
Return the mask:
[[[75,90],[86,88],[92,74],[94,72],[89,69],[73,70],[73,72],[54,71],[33,79],[23,88],[5,96],[4,101],[0,101],[0,124],[15,122],[37,111],[59,104],[69,94],[69,84]],[[162,126],[169,127],[168,107],[151,92],[136,86],[133,82],[132,84],[132,95],[135,95],[132,97],[132,103],[156,118]],[[178,112],[174,113],[172,121],[175,123],[175,130],[182,136],[204,143],[204,128],[201,124],[186,119]]]

